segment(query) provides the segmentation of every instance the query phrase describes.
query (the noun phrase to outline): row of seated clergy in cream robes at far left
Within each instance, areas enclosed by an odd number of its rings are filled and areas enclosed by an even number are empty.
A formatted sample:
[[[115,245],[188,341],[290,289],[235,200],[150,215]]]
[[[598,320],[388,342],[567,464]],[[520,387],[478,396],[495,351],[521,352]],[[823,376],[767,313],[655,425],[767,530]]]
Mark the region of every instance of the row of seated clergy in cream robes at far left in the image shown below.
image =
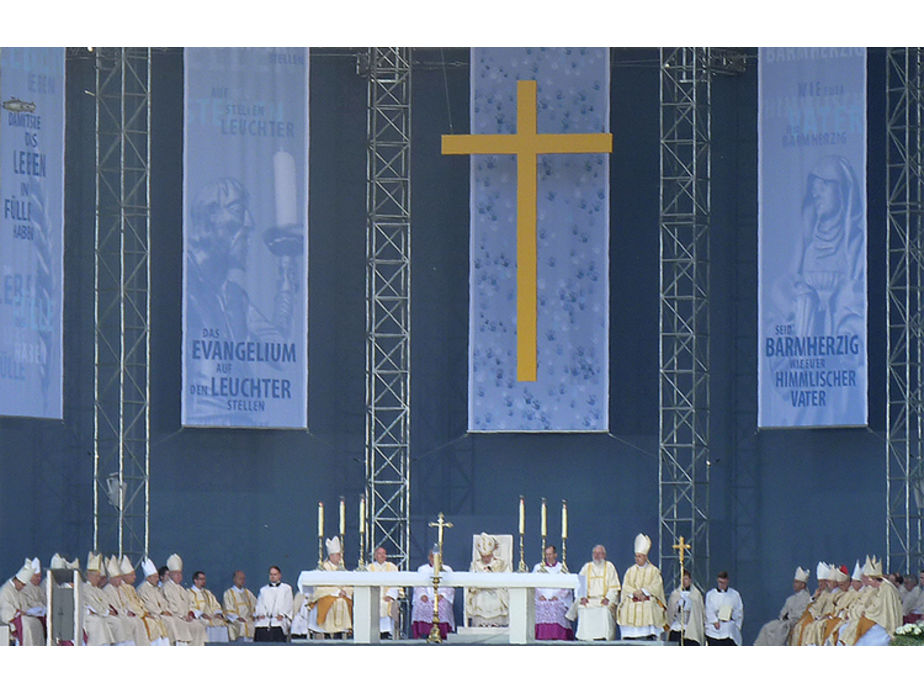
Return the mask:
[[[51,569],[75,570],[55,554]],[[85,579],[79,582],[79,632],[84,645],[203,645],[241,638],[252,640],[261,623],[260,603],[236,571],[222,604],[206,588],[202,571],[193,587],[182,586],[183,561],[173,554],[160,571],[150,558],[135,589],[135,568],[127,556],[108,560],[91,552]],[[64,585],[73,589],[73,583]],[[0,624],[8,625],[17,645],[43,645],[46,638],[46,585],[37,558],[25,564],[0,588]],[[265,622],[266,619],[264,618]],[[74,644],[65,641],[61,644]]]

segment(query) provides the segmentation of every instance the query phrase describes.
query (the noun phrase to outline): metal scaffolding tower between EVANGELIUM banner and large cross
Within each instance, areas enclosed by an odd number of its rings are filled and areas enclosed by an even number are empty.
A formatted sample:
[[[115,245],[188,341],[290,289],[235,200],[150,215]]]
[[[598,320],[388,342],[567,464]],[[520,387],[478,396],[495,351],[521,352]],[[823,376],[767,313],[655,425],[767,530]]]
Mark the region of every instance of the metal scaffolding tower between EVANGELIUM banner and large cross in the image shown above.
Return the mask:
[[[370,48],[366,150],[366,487],[370,548],[409,570],[411,50]]]

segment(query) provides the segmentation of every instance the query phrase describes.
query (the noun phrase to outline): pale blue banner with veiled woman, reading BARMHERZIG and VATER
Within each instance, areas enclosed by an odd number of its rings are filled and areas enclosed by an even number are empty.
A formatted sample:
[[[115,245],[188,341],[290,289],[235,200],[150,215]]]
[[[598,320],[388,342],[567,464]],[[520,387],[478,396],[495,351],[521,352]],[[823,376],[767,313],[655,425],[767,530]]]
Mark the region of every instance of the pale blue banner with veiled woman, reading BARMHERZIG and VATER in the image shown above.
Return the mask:
[[[865,426],[866,50],[758,65],[757,423]]]

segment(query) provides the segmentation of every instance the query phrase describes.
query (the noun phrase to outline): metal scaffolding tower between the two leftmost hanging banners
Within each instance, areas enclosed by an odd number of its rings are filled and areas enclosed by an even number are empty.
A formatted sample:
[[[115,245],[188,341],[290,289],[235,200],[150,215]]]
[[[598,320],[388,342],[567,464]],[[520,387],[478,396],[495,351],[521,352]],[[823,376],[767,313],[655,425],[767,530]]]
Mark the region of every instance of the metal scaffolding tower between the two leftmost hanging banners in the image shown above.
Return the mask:
[[[96,50],[93,548],[149,546],[151,50]]]

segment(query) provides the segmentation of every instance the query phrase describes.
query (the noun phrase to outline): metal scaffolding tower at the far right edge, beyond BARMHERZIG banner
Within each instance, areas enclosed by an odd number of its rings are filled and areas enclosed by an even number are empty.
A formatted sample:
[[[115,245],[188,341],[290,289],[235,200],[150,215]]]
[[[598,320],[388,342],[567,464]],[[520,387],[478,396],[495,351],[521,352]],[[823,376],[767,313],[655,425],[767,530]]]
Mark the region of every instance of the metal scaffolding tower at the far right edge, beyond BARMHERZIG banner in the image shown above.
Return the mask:
[[[886,57],[886,570],[924,567],[924,52]]]

